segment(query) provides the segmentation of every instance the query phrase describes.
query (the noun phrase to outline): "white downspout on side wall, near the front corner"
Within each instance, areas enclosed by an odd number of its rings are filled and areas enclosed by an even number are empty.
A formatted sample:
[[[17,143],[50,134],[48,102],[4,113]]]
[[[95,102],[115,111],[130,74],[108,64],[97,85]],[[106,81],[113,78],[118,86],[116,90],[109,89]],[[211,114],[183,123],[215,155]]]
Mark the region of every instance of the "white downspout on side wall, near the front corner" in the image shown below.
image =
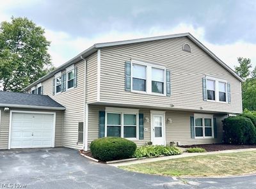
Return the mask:
[[[86,59],[80,56],[84,61],[84,137],[83,137],[83,149],[88,150],[88,103],[86,102],[87,97],[87,84],[86,84]]]

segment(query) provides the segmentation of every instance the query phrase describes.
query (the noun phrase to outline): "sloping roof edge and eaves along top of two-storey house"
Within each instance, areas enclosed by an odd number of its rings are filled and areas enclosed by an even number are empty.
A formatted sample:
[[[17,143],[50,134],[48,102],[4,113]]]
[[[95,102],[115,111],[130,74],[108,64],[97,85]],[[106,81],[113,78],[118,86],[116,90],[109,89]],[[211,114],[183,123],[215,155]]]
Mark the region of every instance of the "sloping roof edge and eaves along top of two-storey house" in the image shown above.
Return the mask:
[[[39,82],[42,82],[45,79],[49,79],[55,73],[60,72],[61,70],[67,68],[71,64],[75,64],[79,61],[82,61],[84,58],[90,56],[91,54],[93,54],[94,52],[96,52],[100,48],[111,47],[111,46],[116,46],[116,45],[127,45],[127,44],[131,44],[131,43],[141,43],[141,42],[150,42],[150,41],[155,41],[155,40],[164,40],[164,39],[170,39],[170,38],[180,38],[180,37],[188,37],[191,41],[196,43],[196,45],[198,45],[202,50],[204,50],[209,56],[211,56],[215,61],[220,63],[221,66],[223,66],[226,70],[228,70],[228,72],[230,72],[232,75],[234,75],[234,77],[236,77],[241,82],[244,81],[241,77],[239,77],[239,75],[237,75],[236,72],[234,72],[234,70],[232,70],[232,68],[230,68],[227,64],[225,64],[223,61],[221,61],[221,59],[219,59],[214,53],[212,53],[211,50],[207,49],[201,42],[196,40],[196,38],[192,34],[190,34],[190,33],[179,33],[179,34],[170,34],[170,35],[165,35],[165,36],[155,36],[155,37],[150,37],[150,38],[139,38],[139,39],[135,39],[135,40],[124,40],[124,41],[118,41],[118,42],[96,43],[92,47],[84,50],[83,52],[81,52],[80,54],[75,56],[74,58],[70,59],[66,63],[64,63],[61,66],[59,66],[58,68],[56,68],[56,70],[52,71],[51,73],[48,73],[47,75],[45,75],[41,79],[38,79],[35,82],[33,82],[32,84],[30,84],[29,86],[25,87],[24,90],[29,89],[30,87],[34,86],[35,84],[37,84]]]

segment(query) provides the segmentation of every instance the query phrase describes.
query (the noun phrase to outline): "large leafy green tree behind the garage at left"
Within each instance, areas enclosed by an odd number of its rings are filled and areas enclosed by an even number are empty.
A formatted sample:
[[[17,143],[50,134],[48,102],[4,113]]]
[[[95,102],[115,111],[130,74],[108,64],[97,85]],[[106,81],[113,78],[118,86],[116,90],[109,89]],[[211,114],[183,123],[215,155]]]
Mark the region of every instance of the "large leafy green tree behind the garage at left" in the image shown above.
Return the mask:
[[[52,70],[51,42],[31,20],[12,17],[0,26],[0,82],[4,91],[21,91]]]

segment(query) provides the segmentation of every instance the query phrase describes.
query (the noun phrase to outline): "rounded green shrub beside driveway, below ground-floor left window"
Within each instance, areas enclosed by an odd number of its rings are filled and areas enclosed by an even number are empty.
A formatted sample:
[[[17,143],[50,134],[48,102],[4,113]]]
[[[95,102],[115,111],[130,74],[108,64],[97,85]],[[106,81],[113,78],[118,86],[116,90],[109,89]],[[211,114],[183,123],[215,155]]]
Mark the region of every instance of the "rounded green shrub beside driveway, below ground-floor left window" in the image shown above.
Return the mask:
[[[131,140],[120,137],[104,137],[93,140],[90,144],[93,157],[102,162],[131,158],[136,147]]]

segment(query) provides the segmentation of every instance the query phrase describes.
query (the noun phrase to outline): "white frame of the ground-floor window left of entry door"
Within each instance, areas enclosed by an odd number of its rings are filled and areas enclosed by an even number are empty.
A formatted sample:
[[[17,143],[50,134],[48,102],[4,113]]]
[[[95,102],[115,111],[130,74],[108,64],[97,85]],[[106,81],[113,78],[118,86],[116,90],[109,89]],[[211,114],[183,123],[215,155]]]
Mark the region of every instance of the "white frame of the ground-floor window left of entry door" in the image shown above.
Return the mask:
[[[136,115],[136,138],[125,138],[125,139],[139,140],[139,110],[138,109],[122,109],[122,108],[106,107],[106,110],[105,110],[105,137],[107,137],[107,131],[108,131],[108,114],[120,114],[121,138],[124,138],[124,114]]]

